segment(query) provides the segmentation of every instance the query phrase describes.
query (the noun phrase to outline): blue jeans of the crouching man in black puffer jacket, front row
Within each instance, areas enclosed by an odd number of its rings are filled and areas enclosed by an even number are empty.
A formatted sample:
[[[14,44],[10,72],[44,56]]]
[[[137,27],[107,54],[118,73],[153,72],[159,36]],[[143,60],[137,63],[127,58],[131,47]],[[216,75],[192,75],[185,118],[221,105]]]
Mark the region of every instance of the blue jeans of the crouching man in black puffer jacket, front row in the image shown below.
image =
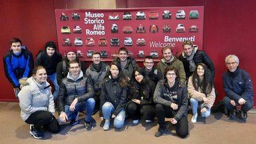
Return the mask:
[[[75,106],[75,110],[74,111],[70,111],[69,110],[70,106],[69,105],[65,105],[64,106],[64,112],[68,116],[68,120],[67,121],[75,119],[76,118],[76,112],[83,111],[84,109],[86,109],[85,121],[92,120],[92,112],[93,112],[94,106],[95,106],[95,100],[93,98],[89,98],[88,100],[86,100],[86,102],[79,102],[79,103],[77,103],[76,106]],[[63,123],[63,122],[61,122],[60,117],[58,117],[58,121],[59,121],[59,123]]]

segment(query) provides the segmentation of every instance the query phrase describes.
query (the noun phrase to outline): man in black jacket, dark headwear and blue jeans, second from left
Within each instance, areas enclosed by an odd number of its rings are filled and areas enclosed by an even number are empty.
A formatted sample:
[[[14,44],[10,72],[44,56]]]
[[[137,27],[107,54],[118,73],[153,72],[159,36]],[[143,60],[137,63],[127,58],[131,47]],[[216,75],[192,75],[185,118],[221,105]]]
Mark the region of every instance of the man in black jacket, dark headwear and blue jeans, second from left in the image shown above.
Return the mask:
[[[57,46],[55,42],[47,42],[45,49],[37,54],[36,66],[43,66],[47,71],[47,78],[55,85],[55,92],[53,99],[55,100],[59,94],[59,84],[57,83],[56,68],[57,64],[61,62],[62,56],[56,51]]]

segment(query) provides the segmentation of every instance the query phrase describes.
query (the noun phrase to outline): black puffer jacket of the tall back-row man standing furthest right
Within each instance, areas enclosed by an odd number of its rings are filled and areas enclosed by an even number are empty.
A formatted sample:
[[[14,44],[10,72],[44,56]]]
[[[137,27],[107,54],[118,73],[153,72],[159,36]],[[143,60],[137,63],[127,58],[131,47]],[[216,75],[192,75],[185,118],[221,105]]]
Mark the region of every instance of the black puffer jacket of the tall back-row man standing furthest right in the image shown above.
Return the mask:
[[[193,74],[193,72],[190,72],[190,62],[188,62],[187,58],[184,58],[183,52],[182,54],[180,54],[179,59],[182,61],[184,65],[186,78],[188,80],[188,78],[190,78],[190,76],[192,76]],[[203,50],[196,50],[195,54],[193,55],[193,62],[195,62],[195,65],[199,63],[205,64],[207,68],[211,70],[211,74],[213,75],[213,78],[214,78],[215,68],[214,68],[213,62],[211,61],[211,58],[209,58],[209,56],[207,56],[207,54],[203,52]]]

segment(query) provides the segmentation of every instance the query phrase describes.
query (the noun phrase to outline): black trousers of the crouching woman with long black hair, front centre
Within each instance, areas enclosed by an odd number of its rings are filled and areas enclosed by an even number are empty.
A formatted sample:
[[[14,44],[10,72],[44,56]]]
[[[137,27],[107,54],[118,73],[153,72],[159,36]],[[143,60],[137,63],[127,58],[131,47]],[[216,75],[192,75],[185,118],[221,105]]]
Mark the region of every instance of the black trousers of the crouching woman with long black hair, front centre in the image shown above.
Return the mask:
[[[140,119],[142,114],[144,120],[153,120],[156,117],[156,110],[151,105],[141,106],[140,104],[130,102],[126,107],[126,111],[133,120]]]

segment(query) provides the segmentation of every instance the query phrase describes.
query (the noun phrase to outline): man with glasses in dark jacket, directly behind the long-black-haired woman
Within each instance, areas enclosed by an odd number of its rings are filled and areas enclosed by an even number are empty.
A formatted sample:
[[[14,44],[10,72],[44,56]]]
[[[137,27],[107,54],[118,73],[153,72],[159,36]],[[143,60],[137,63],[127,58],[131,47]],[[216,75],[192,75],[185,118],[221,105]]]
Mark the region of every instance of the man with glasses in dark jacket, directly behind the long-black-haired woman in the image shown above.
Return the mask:
[[[158,69],[154,68],[154,60],[152,56],[146,56],[143,64],[146,76],[153,80],[155,84],[158,84],[158,81],[163,79],[163,74]]]

